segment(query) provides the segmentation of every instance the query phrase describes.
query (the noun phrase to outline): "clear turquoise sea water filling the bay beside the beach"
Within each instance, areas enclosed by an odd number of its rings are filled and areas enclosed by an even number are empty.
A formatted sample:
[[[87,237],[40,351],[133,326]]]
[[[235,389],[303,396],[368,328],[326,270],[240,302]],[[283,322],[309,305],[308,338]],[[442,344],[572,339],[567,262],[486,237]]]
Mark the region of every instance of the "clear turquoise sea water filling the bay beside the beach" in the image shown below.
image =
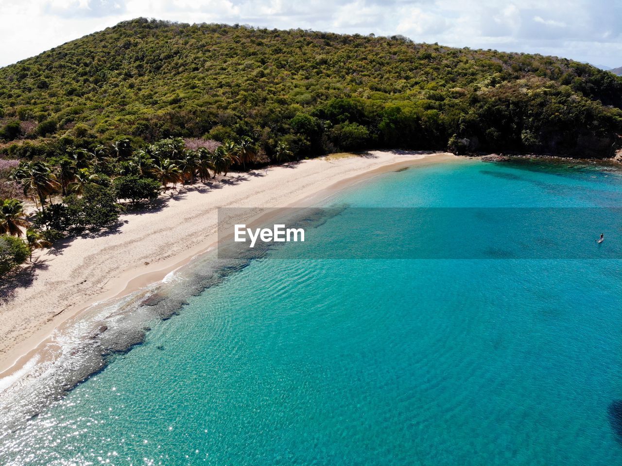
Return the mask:
[[[379,175],[329,203],[621,199],[615,170],[465,160]],[[0,437],[0,464],[622,464],[621,343],[620,260],[276,251]]]

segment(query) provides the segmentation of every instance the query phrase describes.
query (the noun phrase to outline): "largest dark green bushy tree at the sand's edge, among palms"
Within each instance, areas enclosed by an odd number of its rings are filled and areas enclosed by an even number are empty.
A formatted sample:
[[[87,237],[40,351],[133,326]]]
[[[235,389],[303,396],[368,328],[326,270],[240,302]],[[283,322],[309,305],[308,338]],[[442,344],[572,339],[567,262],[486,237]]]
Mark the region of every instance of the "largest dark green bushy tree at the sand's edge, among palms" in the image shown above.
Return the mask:
[[[67,205],[68,224],[75,228],[100,230],[119,220],[121,206],[113,189],[88,184],[82,197],[70,194],[63,199]]]

